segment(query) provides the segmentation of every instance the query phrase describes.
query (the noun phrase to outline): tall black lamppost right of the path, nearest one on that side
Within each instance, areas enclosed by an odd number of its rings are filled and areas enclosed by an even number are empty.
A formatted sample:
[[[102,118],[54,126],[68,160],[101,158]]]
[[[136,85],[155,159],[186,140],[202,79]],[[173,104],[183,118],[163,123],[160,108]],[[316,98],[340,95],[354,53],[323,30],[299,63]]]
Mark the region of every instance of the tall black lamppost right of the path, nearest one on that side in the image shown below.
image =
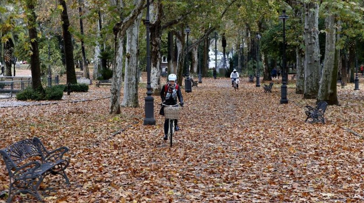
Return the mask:
[[[286,10],[282,11],[282,15],[279,16],[279,19],[283,19],[283,68],[282,68],[282,86],[281,86],[281,100],[280,103],[288,103],[287,100],[287,70],[286,70],[286,30],[285,30],[285,21],[288,19],[288,15],[286,15]]]

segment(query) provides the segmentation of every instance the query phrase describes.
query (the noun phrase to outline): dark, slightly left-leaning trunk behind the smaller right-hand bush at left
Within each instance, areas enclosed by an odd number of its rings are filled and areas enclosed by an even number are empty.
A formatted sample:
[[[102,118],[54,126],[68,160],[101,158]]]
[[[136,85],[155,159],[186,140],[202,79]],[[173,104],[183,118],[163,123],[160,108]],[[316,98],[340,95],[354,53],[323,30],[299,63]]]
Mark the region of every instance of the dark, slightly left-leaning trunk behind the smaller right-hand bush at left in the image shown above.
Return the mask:
[[[66,58],[67,83],[76,84],[77,80],[76,80],[75,62],[73,58],[72,35],[68,30],[68,28],[70,27],[70,21],[68,20],[66,1],[59,0],[59,4],[62,5],[63,7],[63,11],[61,13],[61,19],[62,19],[64,57]]]

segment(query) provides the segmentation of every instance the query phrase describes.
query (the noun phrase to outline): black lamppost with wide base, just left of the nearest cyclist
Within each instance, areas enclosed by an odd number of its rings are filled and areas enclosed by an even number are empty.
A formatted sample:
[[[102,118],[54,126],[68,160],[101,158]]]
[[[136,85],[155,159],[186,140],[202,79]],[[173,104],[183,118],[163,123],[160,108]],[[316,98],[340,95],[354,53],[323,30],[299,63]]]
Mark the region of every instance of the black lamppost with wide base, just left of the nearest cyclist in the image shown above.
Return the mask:
[[[145,97],[145,118],[143,125],[155,125],[154,119],[154,98],[152,97],[152,86],[150,85],[150,21],[149,21],[149,0],[147,0],[147,16],[145,20],[147,30],[147,96]]]

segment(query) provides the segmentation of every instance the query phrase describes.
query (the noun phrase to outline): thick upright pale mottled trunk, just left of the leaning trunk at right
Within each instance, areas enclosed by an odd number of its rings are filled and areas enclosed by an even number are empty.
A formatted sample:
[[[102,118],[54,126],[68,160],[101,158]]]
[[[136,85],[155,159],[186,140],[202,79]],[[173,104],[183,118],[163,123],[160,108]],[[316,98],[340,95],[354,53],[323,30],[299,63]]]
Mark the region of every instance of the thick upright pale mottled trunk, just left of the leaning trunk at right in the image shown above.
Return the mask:
[[[305,89],[304,98],[317,97],[320,81],[320,47],[318,44],[318,4],[305,3]]]

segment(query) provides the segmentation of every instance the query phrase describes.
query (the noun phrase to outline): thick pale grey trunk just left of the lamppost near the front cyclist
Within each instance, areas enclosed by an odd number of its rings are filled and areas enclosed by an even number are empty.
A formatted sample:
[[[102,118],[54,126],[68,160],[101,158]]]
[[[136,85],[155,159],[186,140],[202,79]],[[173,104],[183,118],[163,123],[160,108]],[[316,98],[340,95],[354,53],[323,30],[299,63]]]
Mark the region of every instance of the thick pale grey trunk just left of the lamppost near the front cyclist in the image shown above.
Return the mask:
[[[139,27],[142,13],[126,31],[126,61],[124,74],[124,97],[121,106],[138,107],[138,57]],[[153,55],[152,55],[153,56]]]

